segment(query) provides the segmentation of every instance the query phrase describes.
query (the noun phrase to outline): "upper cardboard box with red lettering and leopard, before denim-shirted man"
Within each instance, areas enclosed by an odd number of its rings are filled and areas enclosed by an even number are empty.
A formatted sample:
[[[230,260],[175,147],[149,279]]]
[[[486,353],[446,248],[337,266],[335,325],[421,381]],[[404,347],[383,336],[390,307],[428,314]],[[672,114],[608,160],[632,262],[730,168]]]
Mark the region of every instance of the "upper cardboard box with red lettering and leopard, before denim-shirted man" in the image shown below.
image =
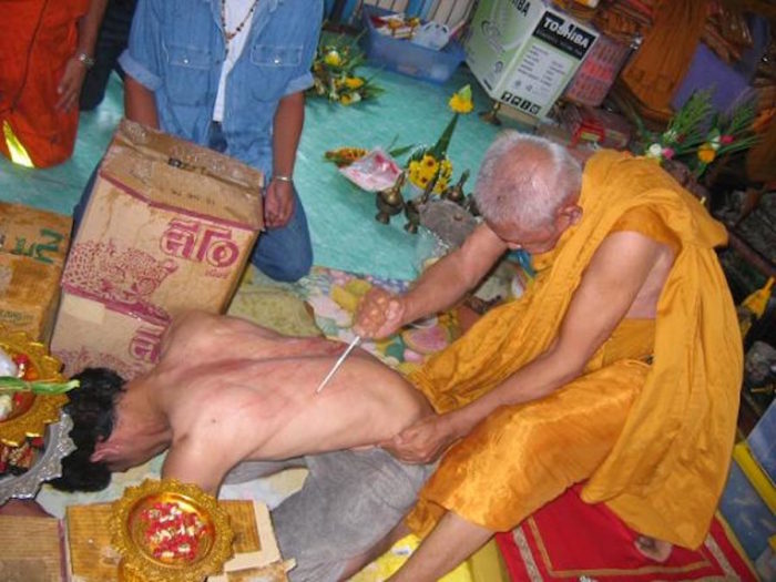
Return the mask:
[[[223,313],[264,226],[262,186],[236,160],[122,122],[63,288],[132,309]]]

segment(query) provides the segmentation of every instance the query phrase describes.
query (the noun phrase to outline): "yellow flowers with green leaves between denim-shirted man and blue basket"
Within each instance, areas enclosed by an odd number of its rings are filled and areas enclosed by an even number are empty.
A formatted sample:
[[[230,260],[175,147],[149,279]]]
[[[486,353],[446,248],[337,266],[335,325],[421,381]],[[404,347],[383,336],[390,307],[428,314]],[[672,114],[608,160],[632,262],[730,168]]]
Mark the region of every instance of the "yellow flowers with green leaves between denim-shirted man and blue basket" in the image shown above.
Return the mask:
[[[374,99],[382,92],[372,79],[357,74],[364,63],[363,53],[355,47],[358,37],[346,40],[337,37],[333,42],[323,38],[313,60],[313,88],[310,93],[326,96],[340,105],[350,105]]]

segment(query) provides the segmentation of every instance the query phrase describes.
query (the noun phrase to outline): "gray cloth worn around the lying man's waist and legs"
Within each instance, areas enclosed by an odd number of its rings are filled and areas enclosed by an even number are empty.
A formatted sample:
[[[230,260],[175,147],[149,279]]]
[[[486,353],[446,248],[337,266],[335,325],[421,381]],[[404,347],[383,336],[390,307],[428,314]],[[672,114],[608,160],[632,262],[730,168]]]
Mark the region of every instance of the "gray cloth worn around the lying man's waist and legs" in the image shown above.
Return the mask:
[[[226,482],[305,464],[309,476],[303,488],[272,512],[280,553],[296,559],[296,568],[288,573],[290,582],[339,580],[350,559],[385,538],[410,510],[436,469],[436,463],[402,463],[374,448],[246,462]]]

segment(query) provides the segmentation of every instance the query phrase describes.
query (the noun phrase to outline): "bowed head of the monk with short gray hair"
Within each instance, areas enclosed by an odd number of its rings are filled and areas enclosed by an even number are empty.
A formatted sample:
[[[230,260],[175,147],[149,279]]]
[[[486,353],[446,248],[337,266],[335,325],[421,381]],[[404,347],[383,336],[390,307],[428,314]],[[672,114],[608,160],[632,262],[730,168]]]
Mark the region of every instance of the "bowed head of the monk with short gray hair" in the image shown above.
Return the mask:
[[[510,131],[488,149],[477,176],[477,207],[510,248],[551,251],[579,222],[582,169],[548,140]]]

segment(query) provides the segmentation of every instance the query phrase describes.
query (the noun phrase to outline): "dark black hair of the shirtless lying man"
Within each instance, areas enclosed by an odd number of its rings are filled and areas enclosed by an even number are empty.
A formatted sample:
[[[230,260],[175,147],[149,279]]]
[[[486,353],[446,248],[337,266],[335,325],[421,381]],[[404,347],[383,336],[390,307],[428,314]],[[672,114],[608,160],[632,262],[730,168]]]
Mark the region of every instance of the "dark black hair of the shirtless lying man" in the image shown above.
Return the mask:
[[[124,391],[124,379],[106,368],[86,368],[73,379],[81,384],[68,392],[70,402],[64,411],[73,419],[70,438],[75,450],[62,460],[62,477],[51,486],[60,491],[100,491],[111,482],[111,471],[106,463],[89,458],[95,445],[111,436],[114,405]]]

